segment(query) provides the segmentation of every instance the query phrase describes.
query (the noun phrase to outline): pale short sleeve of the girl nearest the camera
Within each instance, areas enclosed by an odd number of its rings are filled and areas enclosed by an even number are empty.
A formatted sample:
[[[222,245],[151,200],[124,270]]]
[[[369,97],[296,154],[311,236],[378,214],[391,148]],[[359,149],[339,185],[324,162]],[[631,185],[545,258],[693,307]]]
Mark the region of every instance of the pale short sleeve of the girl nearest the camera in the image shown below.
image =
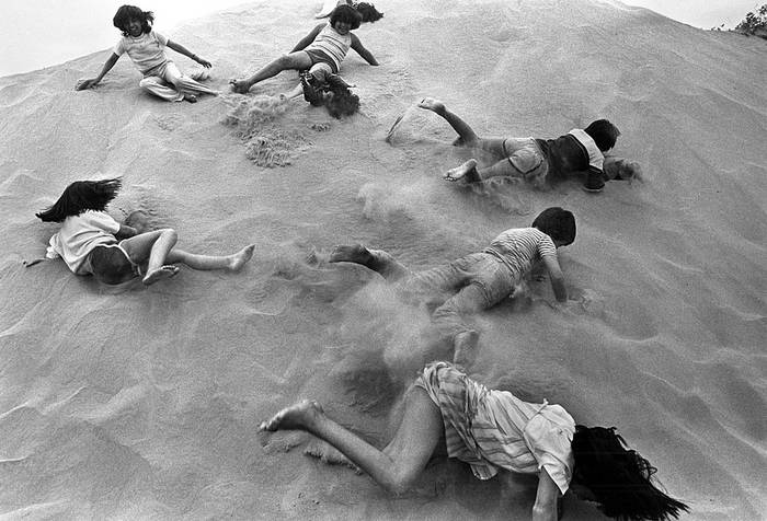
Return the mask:
[[[572,479],[574,430],[575,422],[562,407],[547,405],[530,419],[524,432],[538,468],[546,467],[562,494],[568,491]]]

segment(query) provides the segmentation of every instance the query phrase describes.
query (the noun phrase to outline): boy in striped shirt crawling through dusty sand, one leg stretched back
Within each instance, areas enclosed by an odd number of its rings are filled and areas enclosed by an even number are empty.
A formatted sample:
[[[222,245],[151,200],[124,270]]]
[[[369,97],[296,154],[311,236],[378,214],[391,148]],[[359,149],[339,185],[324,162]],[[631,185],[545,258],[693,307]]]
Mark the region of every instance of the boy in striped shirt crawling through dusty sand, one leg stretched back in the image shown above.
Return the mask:
[[[398,292],[417,297],[450,297],[432,316],[439,333],[453,340],[454,361],[469,366],[476,356],[479,334],[466,323],[467,315],[492,308],[510,297],[534,263],[548,270],[554,297],[568,300],[557,248],[575,240],[575,218],[562,208],[548,208],[530,228],[513,228],[496,236],[480,253],[417,274],[380,250],[357,244],[337,246],[330,262],[367,266],[387,280],[398,281]]]

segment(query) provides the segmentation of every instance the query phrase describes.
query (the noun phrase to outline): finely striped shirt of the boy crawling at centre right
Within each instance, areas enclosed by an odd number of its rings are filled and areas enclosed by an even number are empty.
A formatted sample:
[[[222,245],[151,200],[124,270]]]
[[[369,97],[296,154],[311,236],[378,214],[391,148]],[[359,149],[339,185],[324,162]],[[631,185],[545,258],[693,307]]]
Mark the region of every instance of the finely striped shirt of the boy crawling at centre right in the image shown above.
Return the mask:
[[[557,256],[557,246],[549,235],[537,228],[512,228],[493,239],[484,250],[508,266],[515,277],[522,277],[536,260]]]

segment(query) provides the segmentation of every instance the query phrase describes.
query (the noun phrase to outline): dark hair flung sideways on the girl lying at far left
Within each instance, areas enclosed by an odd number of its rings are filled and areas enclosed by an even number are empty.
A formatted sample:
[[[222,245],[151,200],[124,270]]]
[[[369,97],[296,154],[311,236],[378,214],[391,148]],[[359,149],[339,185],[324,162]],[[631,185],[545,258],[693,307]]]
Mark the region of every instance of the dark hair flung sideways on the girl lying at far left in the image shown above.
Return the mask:
[[[123,186],[119,177],[101,181],[76,181],[65,188],[61,197],[45,210],[35,213],[43,222],[62,222],[83,211],[104,211]]]

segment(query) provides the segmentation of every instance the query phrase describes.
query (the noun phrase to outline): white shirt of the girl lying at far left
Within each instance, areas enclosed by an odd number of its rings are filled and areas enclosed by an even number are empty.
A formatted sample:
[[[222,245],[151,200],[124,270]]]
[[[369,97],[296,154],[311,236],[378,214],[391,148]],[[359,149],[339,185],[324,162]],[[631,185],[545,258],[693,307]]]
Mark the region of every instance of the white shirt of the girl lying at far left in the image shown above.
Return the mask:
[[[88,255],[96,246],[115,244],[115,233],[118,231],[119,223],[103,211],[88,210],[79,216],[69,216],[61,229],[50,238],[45,256],[61,257],[72,273],[88,275]]]

